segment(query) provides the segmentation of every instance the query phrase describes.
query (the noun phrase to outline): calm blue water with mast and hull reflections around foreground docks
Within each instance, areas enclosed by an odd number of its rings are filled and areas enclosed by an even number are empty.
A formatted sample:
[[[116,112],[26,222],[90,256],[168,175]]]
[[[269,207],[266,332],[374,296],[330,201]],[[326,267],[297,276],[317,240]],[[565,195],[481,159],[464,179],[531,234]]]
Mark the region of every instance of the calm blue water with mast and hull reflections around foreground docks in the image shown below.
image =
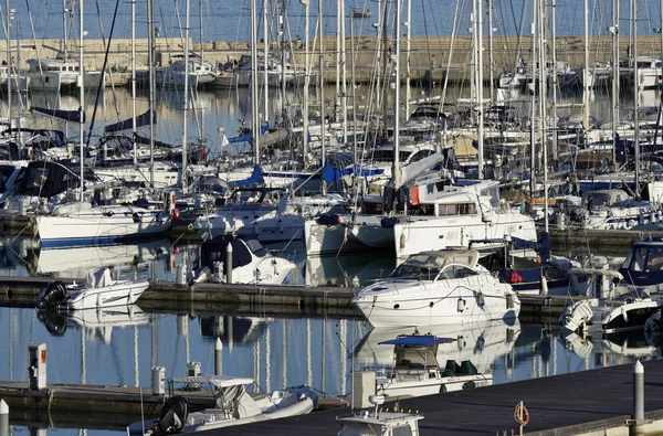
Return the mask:
[[[175,248],[177,246],[177,248]],[[617,265],[629,247],[604,253],[604,262]],[[585,256],[569,249],[573,256]],[[40,249],[31,240],[8,238],[1,249],[1,275],[76,277],[88,266],[114,265],[120,275],[175,278],[173,265],[193,263],[196,244],[168,240],[143,244],[72,249]],[[561,253],[560,253],[561,254]],[[388,275],[390,257],[345,256],[306,259],[303,247],[284,253],[298,264],[296,281],[364,286]],[[367,262],[368,259],[368,262]],[[137,262],[135,262],[137,260]],[[133,265],[137,263],[135,268]],[[350,391],[351,370],[381,368],[391,362],[391,347],[379,342],[394,331],[370,331],[359,319],[264,318],[238,316],[221,305],[204,312],[182,308],[178,313],[144,311],[138,304],[128,313],[90,311],[73,316],[40,317],[33,309],[0,307],[0,380],[28,380],[27,349],[31,342],[46,343],[48,380],[54,383],[140,385],[149,390],[150,369],[166,368],[166,376],[186,372],[187,362],[199,361],[202,372],[213,371],[213,347],[223,342],[223,372],[253,377],[261,390],[308,384],[332,395]],[[421,327],[457,341],[439,353],[445,359],[471,360],[490,372],[494,383],[527,380],[657,357],[659,349],[644,338],[610,338],[566,343],[552,327],[504,322]],[[98,423],[103,427],[103,423]],[[128,424],[128,423],[127,423]],[[98,428],[98,427],[97,427]],[[14,434],[25,432],[13,427]],[[74,435],[77,429],[49,429],[49,434]],[[88,430],[88,434],[116,434]]]

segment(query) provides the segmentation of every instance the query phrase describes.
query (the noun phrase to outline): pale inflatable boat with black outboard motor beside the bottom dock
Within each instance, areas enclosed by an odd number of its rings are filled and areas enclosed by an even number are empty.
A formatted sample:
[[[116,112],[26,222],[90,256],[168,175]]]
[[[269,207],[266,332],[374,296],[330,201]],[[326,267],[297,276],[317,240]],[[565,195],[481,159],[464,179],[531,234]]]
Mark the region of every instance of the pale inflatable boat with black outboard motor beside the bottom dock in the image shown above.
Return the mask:
[[[246,391],[245,385],[249,384],[253,384],[252,379],[229,375],[169,379],[170,397],[161,408],[160,418],[134,423],[129,425],[127,434],[157,436],[193,433],[303,415],[313,411],[317,401],[316,394],[305,386],[253,395]],[[187,400],[172,395],[176,385],[183,385],[188,391],[201,391],[203,386],[210,386],[213,406],[189,413]]]

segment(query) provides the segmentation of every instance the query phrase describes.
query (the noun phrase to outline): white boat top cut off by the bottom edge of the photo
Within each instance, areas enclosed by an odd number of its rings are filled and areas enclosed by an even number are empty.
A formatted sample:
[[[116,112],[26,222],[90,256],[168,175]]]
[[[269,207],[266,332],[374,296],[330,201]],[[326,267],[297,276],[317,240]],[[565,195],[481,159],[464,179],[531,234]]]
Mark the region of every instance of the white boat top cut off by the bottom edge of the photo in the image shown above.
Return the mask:
[[[341,425],[338,436],[420,434],[419,421],[423,419],[423,416],[401,412],[398,410],[398,404],[391,408],[391,412],[379,412],[378,406],[385,404],[383,395],[370,395],[368,401],[375,406],[373,411],[361,411],[354,415],[336,417],[336,422]]]

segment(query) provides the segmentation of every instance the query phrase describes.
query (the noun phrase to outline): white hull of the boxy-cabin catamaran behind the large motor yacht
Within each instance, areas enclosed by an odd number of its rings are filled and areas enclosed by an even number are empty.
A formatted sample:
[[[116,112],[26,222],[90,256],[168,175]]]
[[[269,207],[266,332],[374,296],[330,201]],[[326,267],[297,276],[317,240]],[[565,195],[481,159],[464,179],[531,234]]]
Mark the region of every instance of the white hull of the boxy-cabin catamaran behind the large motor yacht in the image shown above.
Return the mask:
[[[469,247],[472,241],[503,240],[505,235],[525,241],[537,238],[534,220],[527,215],[507,212],[488,216],[488,222],[480,214],[401,221],[393,227],[397,257],[429,249]]]

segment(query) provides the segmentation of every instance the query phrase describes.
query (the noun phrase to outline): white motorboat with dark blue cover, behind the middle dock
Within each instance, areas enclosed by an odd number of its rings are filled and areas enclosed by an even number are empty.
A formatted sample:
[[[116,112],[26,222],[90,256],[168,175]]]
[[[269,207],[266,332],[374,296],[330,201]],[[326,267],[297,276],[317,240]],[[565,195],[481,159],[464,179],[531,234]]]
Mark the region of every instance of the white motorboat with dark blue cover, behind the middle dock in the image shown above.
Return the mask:
[[[232,253],[229,258],[229,253]],[[206,280],[245,285],[282,285],[296,269],[283,257],[273,256],[256,238],[220,235],[202,243],[200,266],[191,285]]]

